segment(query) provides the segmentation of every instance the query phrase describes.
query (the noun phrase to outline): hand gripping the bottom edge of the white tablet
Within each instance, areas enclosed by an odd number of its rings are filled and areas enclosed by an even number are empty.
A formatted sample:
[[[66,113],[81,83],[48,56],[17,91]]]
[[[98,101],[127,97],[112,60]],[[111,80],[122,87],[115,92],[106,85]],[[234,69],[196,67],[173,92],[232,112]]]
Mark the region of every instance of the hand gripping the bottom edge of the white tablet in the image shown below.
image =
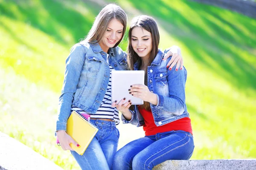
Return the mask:
[[[116,107],[118,111],[120,111],[124,116],[125,119],[131,120],[131,112],[129,111],[129,108],[131,106],[131,100],[129,99],[127,102],[125,102],[125,98],[123,98],[119,103],[117,101],[114,101],[111,105],[111,107]]]

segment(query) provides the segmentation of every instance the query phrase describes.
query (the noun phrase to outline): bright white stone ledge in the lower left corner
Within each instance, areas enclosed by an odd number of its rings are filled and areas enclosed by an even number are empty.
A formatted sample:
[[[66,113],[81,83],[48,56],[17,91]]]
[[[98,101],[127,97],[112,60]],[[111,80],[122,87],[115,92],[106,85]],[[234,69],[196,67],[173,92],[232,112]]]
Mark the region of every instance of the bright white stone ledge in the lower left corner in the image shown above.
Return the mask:
[[[31,148],[0,132],[0,170],[63,170]]]

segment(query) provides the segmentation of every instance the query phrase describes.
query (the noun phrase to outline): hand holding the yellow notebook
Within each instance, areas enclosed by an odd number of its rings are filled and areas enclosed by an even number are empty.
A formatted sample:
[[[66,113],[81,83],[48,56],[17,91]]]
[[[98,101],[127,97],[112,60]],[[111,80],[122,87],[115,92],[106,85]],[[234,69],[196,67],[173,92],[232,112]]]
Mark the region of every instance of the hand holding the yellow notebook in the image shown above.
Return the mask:
[[[69,136],[65,130],[58,130],[56,133],[63,150],[73,150],[70,147],[70,143],[73,143],[75,146],[79,147],[79,144],[71,136]]]

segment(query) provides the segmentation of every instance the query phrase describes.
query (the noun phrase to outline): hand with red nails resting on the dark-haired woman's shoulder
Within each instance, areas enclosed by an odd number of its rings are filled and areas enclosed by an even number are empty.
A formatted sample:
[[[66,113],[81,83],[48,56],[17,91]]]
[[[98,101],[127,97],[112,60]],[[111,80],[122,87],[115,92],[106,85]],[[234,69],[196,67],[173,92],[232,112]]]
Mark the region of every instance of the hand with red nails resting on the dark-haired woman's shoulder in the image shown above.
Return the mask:
[[[172,46],[171,49],[168,51],[168,53],[166,53],[166,56],[163,58],[163,60],[166,60],[170,56],[172,56],[172,59],[168,62],[166,67],[169,68],[169,70],[172,70],[173,66],[177,64],[175,70],[176,71],[178,71],[178,69],[181,70],[183,67],[183,58],[181,56],[180,48],[175,45]]]

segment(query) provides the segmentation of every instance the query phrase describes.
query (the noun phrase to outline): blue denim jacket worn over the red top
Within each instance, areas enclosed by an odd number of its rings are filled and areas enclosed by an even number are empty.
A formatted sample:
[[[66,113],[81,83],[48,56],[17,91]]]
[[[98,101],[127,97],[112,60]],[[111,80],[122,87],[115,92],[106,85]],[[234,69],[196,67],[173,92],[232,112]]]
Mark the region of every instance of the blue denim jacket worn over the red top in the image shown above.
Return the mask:
[[[168,51],[159,50],[154,61],[148,66],[148,89],[157,94],[157,105],[150,104],[154,122],[157,126],[189,117],[185,103],[187,71],[184,67],[178,71],[175,71],[175,69],[169,71],[166,68],[171,57],[165,61],[162,59]],[[136,62],[134,70],[138,70],[138,67],[139,63]],[[126,120],[122,115],[122,121],[137,125],[137,127],[143,126],[145,124],[144,119],[136,105],[134,105],[134,111],[131,112],[131,120]]]

